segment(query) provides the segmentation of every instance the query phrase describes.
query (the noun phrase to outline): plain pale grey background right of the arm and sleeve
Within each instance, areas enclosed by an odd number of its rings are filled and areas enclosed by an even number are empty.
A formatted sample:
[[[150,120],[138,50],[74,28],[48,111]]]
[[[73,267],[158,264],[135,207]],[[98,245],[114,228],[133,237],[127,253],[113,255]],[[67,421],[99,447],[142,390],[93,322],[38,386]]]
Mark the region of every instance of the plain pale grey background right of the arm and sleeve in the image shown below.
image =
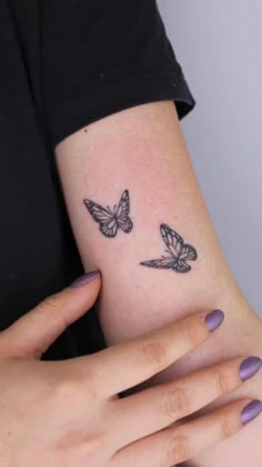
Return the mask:
[[[159,0],[196,100],[181,122],[214,229],[262,316],[262,1]]]

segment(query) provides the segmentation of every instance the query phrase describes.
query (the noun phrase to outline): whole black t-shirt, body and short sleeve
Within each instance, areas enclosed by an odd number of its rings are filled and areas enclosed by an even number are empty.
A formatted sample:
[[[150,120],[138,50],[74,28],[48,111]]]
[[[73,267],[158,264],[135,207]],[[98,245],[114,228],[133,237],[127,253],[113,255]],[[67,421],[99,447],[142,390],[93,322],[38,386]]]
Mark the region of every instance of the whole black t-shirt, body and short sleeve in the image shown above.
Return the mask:
[[[124,108],[194,99],[155,0],[0,0],[0,330],[83,272],[53,150]],[[107,165],[107,160],[104,160]],[[43,359],[103,347],[95,309]]]

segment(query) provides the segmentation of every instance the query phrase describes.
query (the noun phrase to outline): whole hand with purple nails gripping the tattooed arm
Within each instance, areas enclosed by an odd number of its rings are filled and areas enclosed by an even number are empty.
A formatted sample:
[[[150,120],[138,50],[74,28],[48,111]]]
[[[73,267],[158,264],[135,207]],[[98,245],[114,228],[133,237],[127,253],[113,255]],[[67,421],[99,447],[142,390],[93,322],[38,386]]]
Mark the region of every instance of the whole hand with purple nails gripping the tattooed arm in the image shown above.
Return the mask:
[[[0,335],[1,467],[170,467],[232,436],[259,415],[262,404],[244,399],[181,421],[258,372],[261,360],[254,358],[225,361],[118,397],[209,339],[223,320],[218,310],[91,356],[39,360],[94,302],[100,276],[85,275],[72,286]]]

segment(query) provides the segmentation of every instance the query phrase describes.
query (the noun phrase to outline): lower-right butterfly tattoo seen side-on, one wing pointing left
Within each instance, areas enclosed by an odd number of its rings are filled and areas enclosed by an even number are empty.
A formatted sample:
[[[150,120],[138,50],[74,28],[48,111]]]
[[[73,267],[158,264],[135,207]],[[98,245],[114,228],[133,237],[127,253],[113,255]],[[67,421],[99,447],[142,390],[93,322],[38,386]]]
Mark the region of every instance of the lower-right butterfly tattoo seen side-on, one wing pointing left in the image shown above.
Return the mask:
[[[150,268],[172,269],[175,272],[188,272],[191,266],[188,261],[193,261],[198,258],[195,249],[191,245],[184,244],[182,237],[172,230],[165,223],[161,223],[160,234],[168,247],[165,250],[169,256],[162,256],[160,259],[152,259],[150,261],[140,262],[142,266]]]

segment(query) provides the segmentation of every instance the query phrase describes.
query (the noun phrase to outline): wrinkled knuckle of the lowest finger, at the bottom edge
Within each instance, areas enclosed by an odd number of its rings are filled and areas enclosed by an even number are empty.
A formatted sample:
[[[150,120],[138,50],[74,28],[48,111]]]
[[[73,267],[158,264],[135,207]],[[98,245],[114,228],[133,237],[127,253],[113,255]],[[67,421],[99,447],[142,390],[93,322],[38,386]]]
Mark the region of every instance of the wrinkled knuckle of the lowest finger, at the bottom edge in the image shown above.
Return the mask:
[[[191,456],[189,437],[187,435],[171,435],[168,439],[167,464],[179,464]]]

